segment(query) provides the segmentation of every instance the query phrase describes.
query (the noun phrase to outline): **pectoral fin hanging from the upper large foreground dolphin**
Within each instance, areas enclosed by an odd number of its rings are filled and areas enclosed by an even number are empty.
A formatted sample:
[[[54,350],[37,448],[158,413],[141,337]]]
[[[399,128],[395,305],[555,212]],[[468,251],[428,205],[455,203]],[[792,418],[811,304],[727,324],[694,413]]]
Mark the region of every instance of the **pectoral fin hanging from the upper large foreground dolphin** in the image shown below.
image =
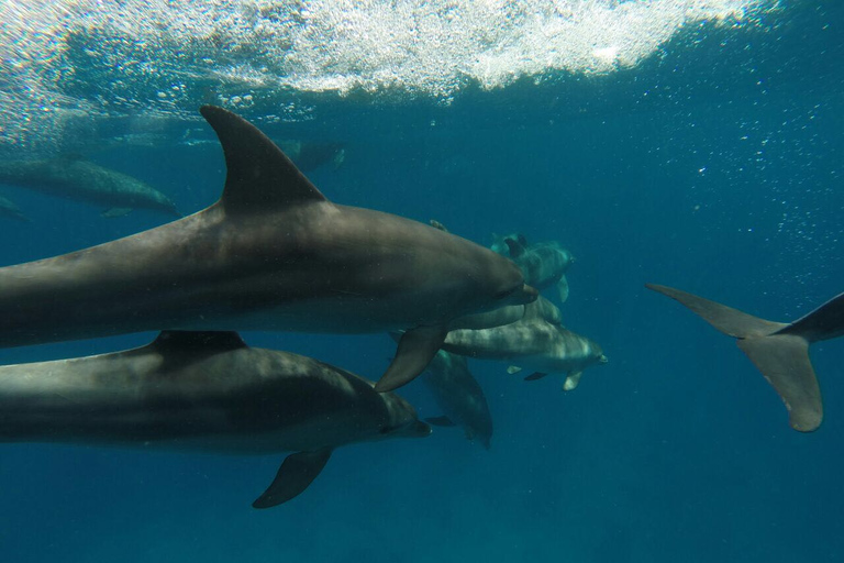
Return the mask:
[[[425,371],[445,342],[447,333],[445,327],[418,327],[404,332],[399,340],[396,357],[375,385],[375,390],[391,391],[413,380]]]

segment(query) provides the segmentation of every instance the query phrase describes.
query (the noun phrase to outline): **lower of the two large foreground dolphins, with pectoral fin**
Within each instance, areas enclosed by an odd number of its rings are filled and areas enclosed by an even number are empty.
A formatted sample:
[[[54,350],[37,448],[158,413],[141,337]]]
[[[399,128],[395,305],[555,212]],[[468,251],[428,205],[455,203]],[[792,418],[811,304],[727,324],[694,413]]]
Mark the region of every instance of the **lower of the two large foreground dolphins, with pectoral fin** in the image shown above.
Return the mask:
[[[164,332],[149,345],[0,366],[0,441],[235,455],[297,452],[253,506],[302,493],[341,445],[426,437],[404,399],[234,332]]]

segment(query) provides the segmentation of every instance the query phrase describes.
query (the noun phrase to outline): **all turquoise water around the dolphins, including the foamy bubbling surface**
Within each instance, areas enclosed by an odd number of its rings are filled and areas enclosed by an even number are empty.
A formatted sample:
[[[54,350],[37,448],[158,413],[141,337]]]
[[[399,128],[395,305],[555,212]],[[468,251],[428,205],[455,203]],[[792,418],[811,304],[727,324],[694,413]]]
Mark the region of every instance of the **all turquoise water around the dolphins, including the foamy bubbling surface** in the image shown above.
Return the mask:
[[[193,212],[224,178],[200,103],[273,137],[344,142],[343,166],[309,173],[334,201],[570,249],[564,321],[610,358],[571,393],[470,362],[489,452],[440,428],[349,445],[271,510],[249,503],[281,456],[4,445],[4,561],[844,558],[844,343],[812,347],[825,420],[799,434],[731,339],[643,287],[779,321],[842,291],[836,2],[0,5],[4,158],[82,153]],[[166,220],[0,189],[32,219],[0,223],[2,265]],[[152,338],[0,350],[0,363]],[[369,378],[395,351],[378,334],[244,338]],[[440,413],[419,383],[399,393]]]

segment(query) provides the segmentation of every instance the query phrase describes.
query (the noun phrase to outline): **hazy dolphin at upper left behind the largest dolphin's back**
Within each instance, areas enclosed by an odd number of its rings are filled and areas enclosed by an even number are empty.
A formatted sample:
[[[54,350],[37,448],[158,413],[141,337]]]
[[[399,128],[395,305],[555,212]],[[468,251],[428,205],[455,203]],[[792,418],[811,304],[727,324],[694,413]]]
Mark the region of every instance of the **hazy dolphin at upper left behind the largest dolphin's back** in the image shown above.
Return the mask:
[[[0,184],[102,206],[103,217],[119,217],[132,209],[181,217],[175,203],[148,184],[74,156],[0,163]]]

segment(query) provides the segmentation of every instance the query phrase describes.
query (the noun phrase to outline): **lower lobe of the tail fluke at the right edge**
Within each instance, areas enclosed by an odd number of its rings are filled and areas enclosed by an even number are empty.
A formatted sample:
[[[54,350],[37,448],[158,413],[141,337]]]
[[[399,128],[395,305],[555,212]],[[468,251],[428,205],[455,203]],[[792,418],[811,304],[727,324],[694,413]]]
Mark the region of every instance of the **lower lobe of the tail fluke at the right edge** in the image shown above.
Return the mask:
[[[742,339],[738,347],[782,398],[791,428],[817,430],[823,420],[823,400],[809,360],[809,342],[795,334],[773,334]]]

